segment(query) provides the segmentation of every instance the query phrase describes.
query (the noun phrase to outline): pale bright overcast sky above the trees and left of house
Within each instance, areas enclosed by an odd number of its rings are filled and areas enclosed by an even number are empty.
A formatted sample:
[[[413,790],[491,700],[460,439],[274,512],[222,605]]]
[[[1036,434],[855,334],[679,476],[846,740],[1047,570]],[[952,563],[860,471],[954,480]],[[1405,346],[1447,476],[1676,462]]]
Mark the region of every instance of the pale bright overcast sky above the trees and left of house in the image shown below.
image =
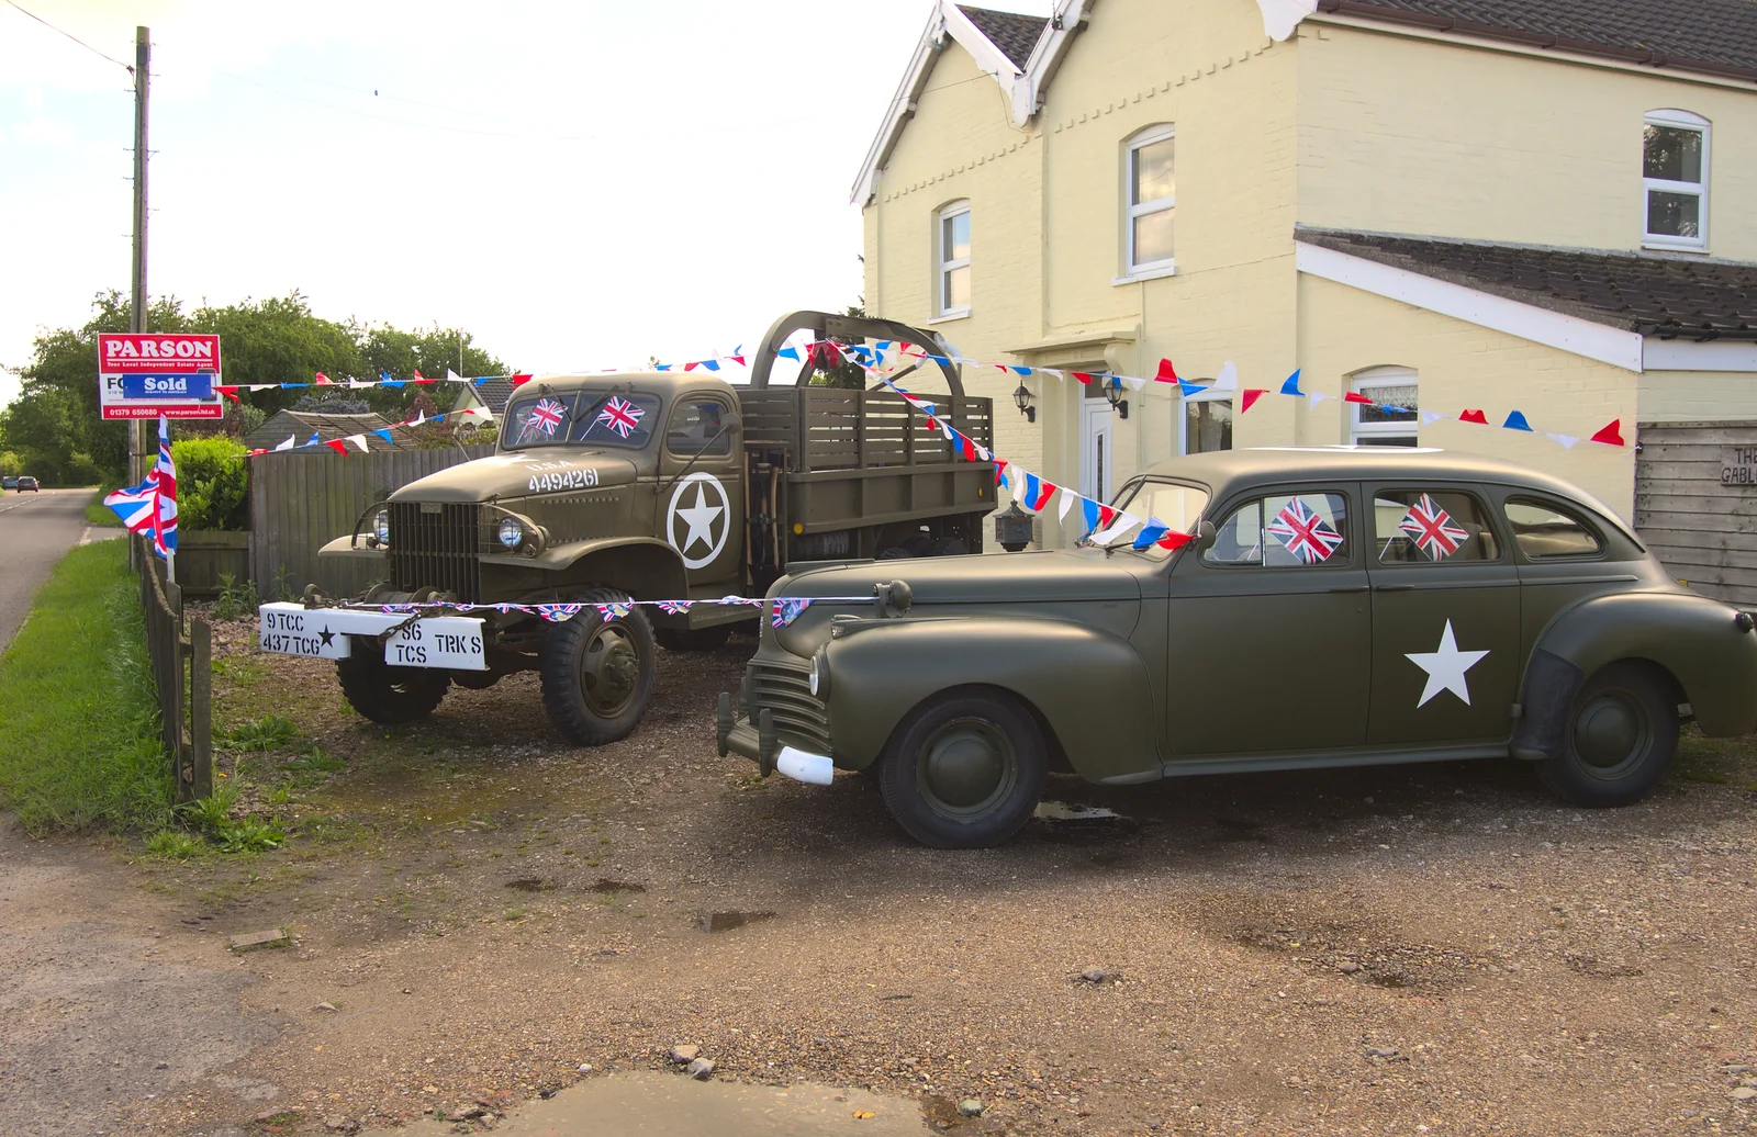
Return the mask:
[[[153,30],[149,290],[462,325],[518,370],[861,290],[849,186],[929,0],[16,0]],[[1051,0],[994,7],[1047,14]],[[128,288],[130,77],[0,0],[0,365]],[[0,402],[16,393],[0,374]]]

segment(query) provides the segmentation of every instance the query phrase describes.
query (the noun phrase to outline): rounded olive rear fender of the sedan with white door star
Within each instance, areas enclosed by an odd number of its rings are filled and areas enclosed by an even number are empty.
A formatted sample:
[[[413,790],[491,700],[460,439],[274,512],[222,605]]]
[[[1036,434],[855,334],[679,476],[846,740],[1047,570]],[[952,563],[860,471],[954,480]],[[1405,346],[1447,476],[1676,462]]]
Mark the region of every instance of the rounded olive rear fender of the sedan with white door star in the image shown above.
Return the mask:
[[[1757,637],[1725,604],[1690,593],[1613,593],[1564,609],[1539,633],[1525,667],[1515,758],[1562,753],[1581,684],[1618,660],[1646,660],[1678,684],[1703,733],[1757,730]]]

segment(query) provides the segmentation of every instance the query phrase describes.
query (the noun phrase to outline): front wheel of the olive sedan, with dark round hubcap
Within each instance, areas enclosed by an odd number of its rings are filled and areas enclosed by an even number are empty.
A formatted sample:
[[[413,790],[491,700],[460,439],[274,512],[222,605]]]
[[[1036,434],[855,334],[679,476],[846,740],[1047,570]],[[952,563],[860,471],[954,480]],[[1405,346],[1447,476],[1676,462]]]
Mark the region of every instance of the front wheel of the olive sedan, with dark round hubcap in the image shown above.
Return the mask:
[[[986,849],[1031,819],[1049,753],[1037,719],[1003,691],[951,691],[914,711],[878,770],[886,809],[938,849]]]

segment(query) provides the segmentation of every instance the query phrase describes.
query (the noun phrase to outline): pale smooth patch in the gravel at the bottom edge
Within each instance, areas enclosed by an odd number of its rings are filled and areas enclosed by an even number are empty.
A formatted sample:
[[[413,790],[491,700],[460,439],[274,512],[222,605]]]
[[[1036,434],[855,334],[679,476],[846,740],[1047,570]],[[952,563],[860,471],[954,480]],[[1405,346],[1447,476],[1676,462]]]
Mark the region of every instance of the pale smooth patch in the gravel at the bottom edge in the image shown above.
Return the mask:
[[[954,1116],[956,1116],[956,1107]],[[471,1126],[474,1128],[474,1126]],[[427,1119],[408,1128],[429,1137],[453,1126]],[[590,1077],[548,1100],[520,1105],[494,1126],[522,1137],[784,1137],[792,1133],[863,1133],[915,1137],[935,1132],[921,1105],[866,1090],[798,1083],[747,1086],[698,1083],[682,1074],[640,1072]]]

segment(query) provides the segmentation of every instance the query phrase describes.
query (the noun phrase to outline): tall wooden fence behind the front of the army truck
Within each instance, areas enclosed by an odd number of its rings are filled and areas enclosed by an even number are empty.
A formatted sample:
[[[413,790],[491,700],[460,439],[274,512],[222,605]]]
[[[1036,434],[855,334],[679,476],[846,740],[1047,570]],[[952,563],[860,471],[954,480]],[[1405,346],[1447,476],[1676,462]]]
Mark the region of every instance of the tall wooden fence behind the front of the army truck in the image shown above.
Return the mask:
[[[392,491],[492,453],[492,446],[452,446],[343,456],[313,447],[251,458],[249,563],[257,591],[265,600],[278,593],[297,595],[306,584],[332,597],[364,591],[383,577],[381,567],[367,560],[318,558],[318,549],[346,537],[365,507]]]

